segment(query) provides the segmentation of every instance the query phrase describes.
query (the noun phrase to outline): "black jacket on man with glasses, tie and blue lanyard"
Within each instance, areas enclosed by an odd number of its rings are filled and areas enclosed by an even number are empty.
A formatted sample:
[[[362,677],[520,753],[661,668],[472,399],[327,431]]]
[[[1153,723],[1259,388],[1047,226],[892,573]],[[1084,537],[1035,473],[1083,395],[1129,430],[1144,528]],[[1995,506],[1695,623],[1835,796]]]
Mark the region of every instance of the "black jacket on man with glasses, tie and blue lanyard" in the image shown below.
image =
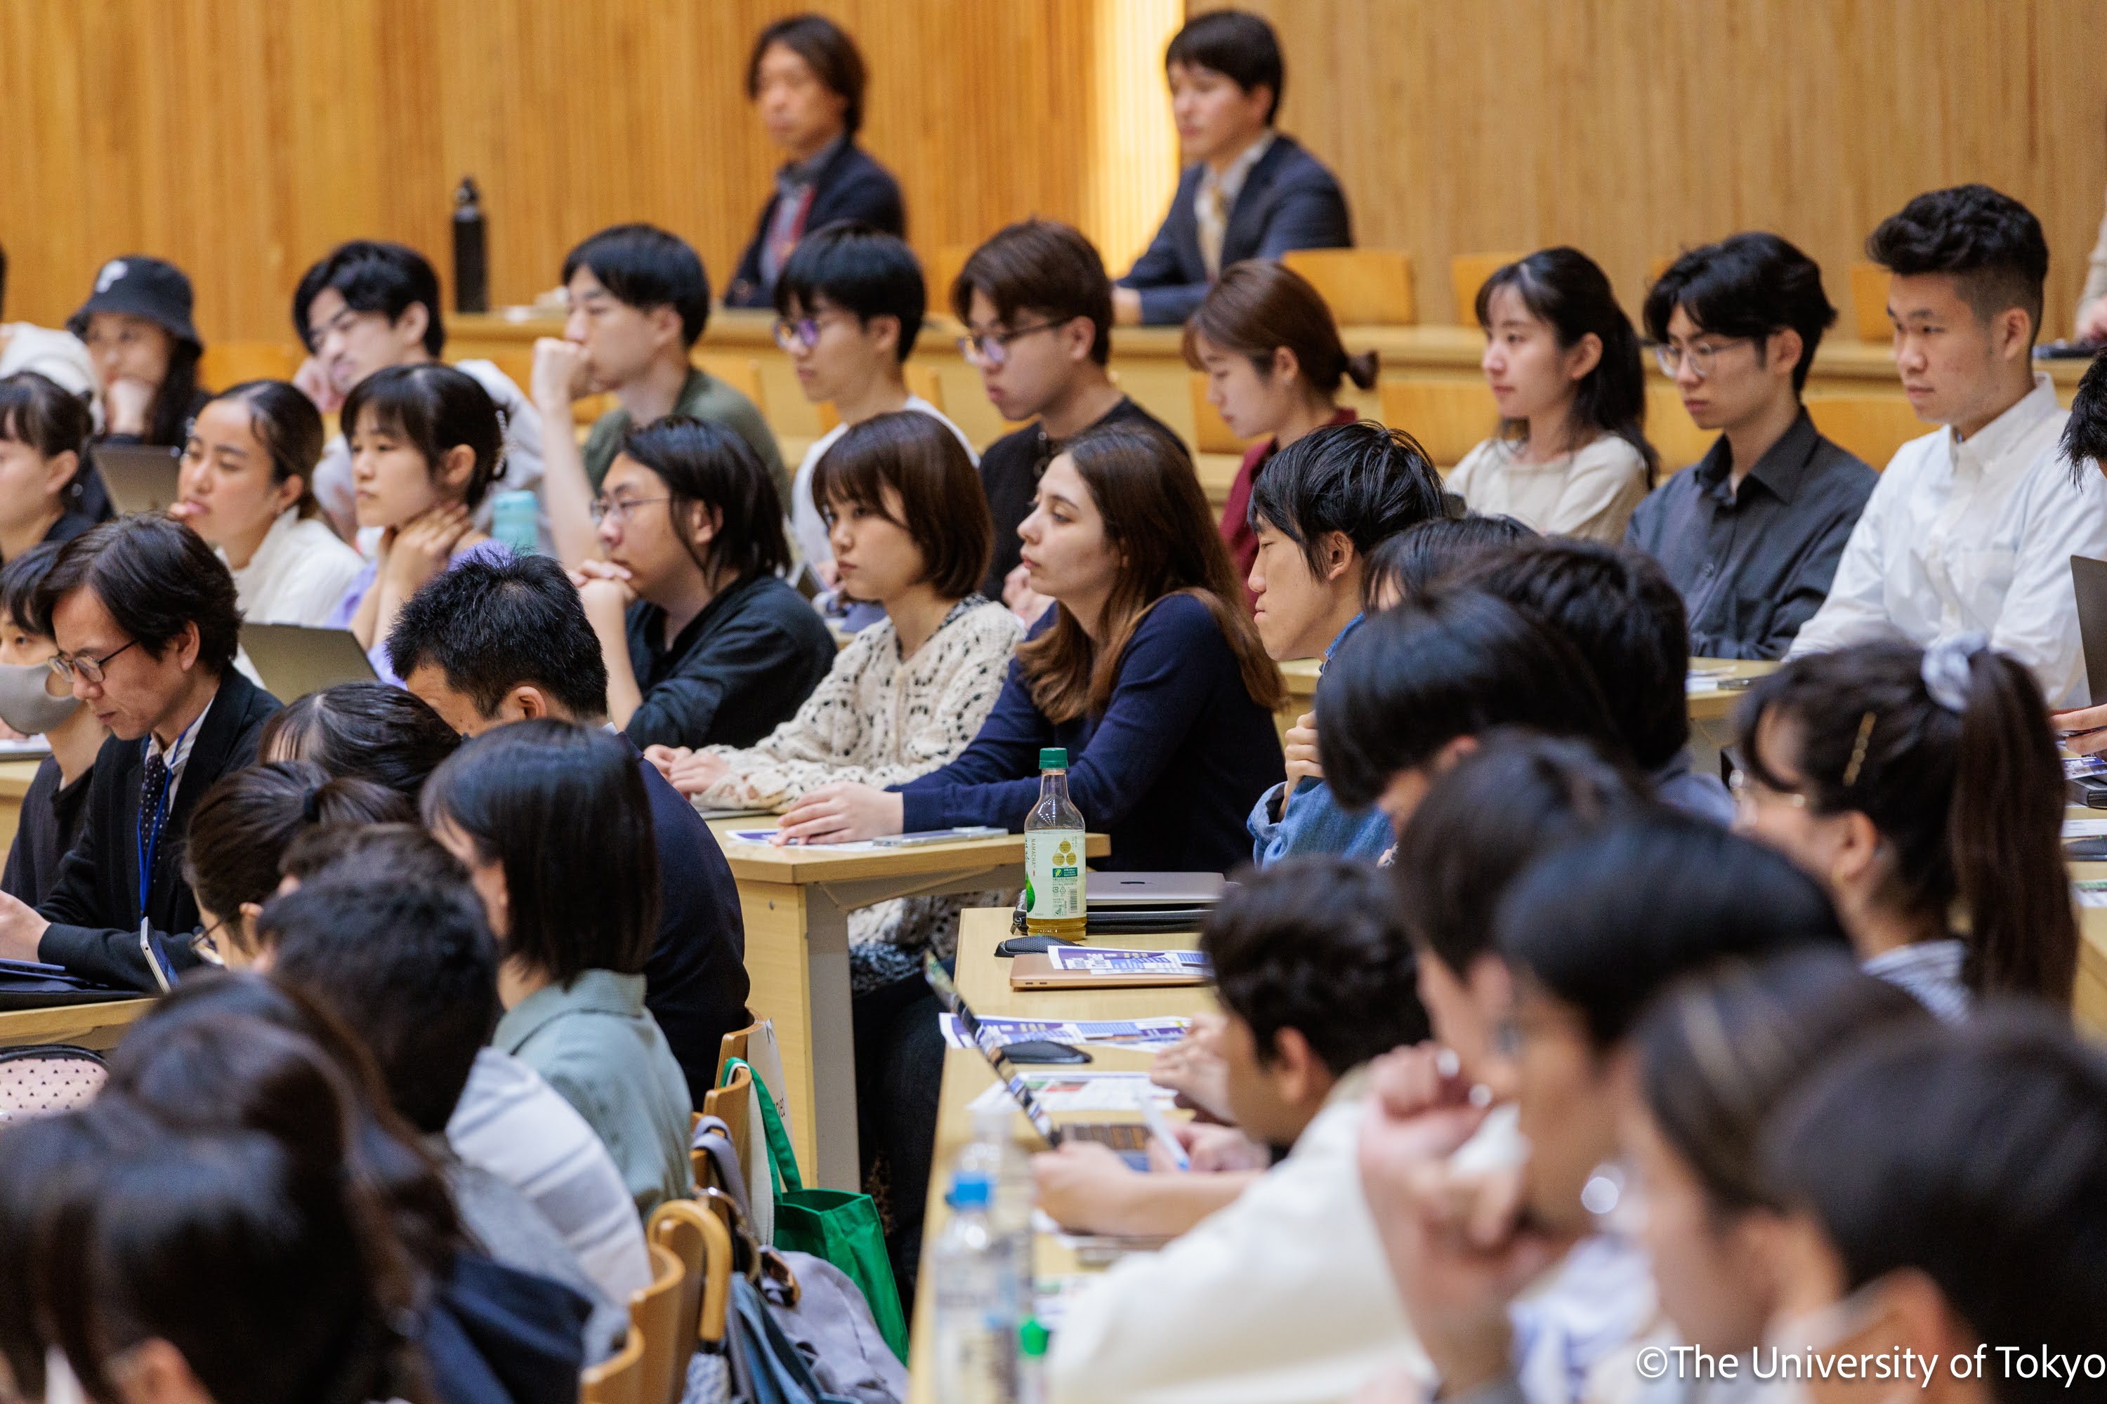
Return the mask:
[[[154,884],[147,920],[162,937],[169,958],[198,964],[188,937],[198,928],[198,899],[183,882],[183,836],[198,800],[221,775],[257,758],[257,735],[278,699],[228,667],[219,678],[198,739],[190,745],[183,781],[154,850]],[[59,882],[38,914],[51,922],[38,945],[38,960],[65,966],[120,989],[158,989],[139,949],[139,785],[145,739],[110,737],[95,756],[88,781],[88,817],[80,840],[59,863]]]

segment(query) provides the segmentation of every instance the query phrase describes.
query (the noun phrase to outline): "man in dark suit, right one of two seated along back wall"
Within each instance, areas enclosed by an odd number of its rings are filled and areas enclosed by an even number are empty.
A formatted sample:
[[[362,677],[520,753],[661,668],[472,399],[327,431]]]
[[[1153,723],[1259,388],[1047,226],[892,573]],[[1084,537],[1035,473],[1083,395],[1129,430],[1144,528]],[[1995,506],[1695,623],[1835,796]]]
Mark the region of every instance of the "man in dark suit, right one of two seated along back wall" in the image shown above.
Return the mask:
[[[1283,82],[1273,25],[1241,11],[1201,15],[1171,40],[1163,72],[1193,164],[1148,253],[1112,288],[1121,324],[1184,322],[1230,263],[1353,246],[1338,181],[1273,131]]]

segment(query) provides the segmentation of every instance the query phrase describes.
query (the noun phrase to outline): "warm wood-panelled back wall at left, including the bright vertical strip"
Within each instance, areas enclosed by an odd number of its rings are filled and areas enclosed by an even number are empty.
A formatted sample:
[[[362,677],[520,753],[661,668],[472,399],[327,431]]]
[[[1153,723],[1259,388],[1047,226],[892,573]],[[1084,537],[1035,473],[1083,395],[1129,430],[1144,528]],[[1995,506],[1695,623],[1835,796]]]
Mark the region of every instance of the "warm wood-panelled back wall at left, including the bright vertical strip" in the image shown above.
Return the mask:
[[[6,316],[55,324],[103,259],[154,253],[192,274],[209,341],[289,339],[295,280],[339,240],[402,240],[447,280],[464,173],[493,303],[624,219],[691,238],[721,290],[780,160],[748,46],[796,8],[855,34],[862,139],[925,263],[1032,213],[1117,267],[1146,244],[1182,0],[6,0]]]

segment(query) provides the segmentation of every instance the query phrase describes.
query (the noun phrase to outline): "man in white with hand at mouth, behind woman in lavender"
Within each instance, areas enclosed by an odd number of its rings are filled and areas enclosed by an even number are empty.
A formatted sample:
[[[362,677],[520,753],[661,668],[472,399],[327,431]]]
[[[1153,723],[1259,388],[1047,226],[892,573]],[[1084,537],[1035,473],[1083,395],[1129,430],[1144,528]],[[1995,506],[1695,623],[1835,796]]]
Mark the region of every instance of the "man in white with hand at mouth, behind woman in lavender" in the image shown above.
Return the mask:
[[[447,324],[438,314],[438,274],[421,253],[402,244],[337,244],[301,276],[293,293],[293,330],[308,347],[293,383],[324,415],[333,413],[352,385],[375,370],[440,358]],[[541,417],[495,362],[464,360],[455,368],[489,392],[506,427],[504,465],[476,512],[476,526],[489,530],[493,497],[518,490],[541,495]],[[352,450],[343,434],[322,446],[314,497],[337,535],[356,543],[358,503],[352,499]],[[548,512],[539,516],[541,549],[548,551]]]

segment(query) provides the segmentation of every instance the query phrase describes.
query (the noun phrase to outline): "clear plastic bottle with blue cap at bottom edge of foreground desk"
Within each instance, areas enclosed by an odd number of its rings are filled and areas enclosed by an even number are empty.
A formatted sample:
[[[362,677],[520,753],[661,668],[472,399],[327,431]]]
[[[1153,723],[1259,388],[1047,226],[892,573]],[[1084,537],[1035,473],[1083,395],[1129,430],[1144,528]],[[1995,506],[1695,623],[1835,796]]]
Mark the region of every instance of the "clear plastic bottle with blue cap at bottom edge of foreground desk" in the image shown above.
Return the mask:
[[[978,1170],[950,1181],[950,1223],[936,1242],[938,1404],[1013,1404],[1016,1265],[988,1223],[995,1185]]]

